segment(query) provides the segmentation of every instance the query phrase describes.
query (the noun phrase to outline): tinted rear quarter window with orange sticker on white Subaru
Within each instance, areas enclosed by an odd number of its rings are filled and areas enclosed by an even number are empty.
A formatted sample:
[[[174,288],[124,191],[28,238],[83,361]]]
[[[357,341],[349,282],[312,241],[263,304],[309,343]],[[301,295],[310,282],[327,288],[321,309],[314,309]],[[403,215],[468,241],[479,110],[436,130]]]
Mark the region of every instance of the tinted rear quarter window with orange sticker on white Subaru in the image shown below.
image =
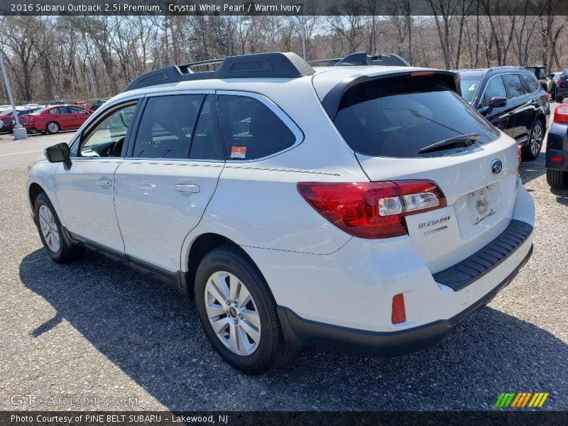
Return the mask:
[[[294,145],[296,137],[258,99],[219,96],[219,113],[227,160],[256,160]]]

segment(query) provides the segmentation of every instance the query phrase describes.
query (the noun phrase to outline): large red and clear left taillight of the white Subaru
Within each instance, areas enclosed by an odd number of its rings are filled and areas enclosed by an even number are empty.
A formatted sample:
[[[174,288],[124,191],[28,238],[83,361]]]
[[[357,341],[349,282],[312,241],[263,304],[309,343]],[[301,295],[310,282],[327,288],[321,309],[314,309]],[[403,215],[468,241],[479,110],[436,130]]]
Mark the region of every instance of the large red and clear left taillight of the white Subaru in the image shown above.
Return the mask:
[[[405,216],[446,207],[430,180],[300,182],[297,190],[329,222],[366,239],[406,235]]]

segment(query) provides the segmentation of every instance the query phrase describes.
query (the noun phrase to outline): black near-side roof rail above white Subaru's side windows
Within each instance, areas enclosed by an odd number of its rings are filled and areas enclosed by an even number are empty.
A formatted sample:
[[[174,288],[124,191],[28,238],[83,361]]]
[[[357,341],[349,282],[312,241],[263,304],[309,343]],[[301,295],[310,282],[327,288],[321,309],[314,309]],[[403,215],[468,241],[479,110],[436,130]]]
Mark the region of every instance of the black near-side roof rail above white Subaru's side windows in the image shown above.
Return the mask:
[[[215,71],[194,72],[190,68],[221,65]],[[295,53],[258,53],[255,55],[231,56],[224,59],[191,62],[185,65],[171,65],[145,72],[126,86],[123,92],[141,89],[155,84],[177,83],[191,80],[227,78],[297,78],[311,75],[313,68]]]

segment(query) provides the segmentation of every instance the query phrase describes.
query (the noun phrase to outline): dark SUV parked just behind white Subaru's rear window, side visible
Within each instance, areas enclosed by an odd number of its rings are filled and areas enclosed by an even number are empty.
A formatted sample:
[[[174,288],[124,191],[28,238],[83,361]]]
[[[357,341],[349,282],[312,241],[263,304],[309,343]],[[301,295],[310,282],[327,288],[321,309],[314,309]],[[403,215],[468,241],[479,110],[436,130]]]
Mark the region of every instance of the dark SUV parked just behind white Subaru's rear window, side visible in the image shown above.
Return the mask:
[[[534,160],[545,137],[550,101],[523,67],[459,71],[461,96],[498,129],[515,138],[523,160]]]

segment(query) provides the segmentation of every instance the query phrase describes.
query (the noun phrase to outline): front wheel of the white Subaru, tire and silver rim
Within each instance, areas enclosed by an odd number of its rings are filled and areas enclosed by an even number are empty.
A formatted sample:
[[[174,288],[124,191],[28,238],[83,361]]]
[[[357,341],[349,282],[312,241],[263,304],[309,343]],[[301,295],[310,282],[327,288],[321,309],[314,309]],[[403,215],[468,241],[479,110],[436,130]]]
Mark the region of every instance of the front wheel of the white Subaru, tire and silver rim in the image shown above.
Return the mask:
[[[48,256],[58,263],[77,261],[84,255],[84,248],[70,244],[62,234],[62,226],[48,196],[42,192],[35,199],[35,226]]]

